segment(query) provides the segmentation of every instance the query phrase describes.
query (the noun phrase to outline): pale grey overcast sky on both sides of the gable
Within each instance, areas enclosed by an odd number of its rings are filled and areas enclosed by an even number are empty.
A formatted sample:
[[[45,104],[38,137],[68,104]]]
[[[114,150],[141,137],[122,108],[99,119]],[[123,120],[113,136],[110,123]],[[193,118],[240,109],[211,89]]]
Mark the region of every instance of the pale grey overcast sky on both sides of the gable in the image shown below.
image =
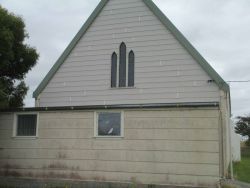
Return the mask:
[[[40,59],[29,72],[26,106],[32,92],[100,0],[0,0],[21,15]],[[226,80],[250,80],[250,0],[154,0]],[[231,83],[232,113],[250,114],[250,83]]]

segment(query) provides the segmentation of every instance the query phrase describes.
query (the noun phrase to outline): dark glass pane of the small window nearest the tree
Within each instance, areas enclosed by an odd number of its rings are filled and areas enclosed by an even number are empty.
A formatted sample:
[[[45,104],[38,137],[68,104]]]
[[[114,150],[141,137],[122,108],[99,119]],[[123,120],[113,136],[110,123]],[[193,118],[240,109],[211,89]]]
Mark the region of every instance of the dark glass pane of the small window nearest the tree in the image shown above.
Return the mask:
[[[37,115],[17,116],[17,136],[36,136]]]

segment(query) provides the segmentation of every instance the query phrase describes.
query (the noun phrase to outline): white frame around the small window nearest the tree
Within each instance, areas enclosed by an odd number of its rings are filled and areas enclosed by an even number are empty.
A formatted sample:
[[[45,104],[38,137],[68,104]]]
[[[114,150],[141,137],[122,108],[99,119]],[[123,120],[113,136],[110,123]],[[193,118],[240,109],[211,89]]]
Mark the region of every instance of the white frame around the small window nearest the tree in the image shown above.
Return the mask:
[[[17,116],[18,115],[36,115],[36,135],[35,136],[17,136]],[[13,124],[12,138],[15,138],[15,139],[37,139],[38,138],[38,127],[39,127],[38,122],[39,122],[39,113],[38,112],[14,113],[14,124]]]

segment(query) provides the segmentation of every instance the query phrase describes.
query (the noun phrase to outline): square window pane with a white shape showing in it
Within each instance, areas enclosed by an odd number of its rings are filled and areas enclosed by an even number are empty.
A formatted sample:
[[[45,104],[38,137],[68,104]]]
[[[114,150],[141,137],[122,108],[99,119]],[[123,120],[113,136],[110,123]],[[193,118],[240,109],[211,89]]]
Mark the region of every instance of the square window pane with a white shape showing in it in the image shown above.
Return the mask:
[[[121,113],[99,113],[98,136],[121,136]]]

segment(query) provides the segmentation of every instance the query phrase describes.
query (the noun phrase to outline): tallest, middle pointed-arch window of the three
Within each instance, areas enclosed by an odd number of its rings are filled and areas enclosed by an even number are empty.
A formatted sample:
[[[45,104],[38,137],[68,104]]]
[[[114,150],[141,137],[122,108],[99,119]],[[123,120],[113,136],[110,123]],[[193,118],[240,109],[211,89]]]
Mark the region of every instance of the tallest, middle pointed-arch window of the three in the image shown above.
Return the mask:
[[[126,45],[122,42],[120,45],[119,87],[126,87],[126,68]]]

